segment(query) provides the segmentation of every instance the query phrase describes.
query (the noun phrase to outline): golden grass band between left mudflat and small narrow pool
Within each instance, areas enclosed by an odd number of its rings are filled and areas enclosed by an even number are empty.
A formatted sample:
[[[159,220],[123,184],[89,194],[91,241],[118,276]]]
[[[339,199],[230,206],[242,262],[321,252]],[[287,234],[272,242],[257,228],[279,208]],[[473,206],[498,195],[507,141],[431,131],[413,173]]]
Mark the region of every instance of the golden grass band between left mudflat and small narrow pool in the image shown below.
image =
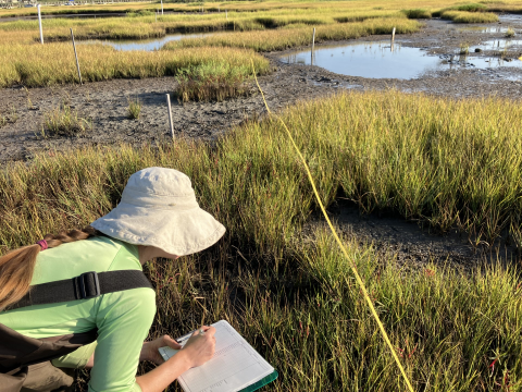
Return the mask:
[[[250,59],[259,72],[269,71],[269,60],[245,49],[198,48],[176,51],[117,51],[103,45],[77,47],[82,78],[86,82],[121,77],[176,75],[179,69],[209,62],[245,66]],[[70,44],[0,45],[0,86],[21,83],[28,87],[77,81],[74,51]]]

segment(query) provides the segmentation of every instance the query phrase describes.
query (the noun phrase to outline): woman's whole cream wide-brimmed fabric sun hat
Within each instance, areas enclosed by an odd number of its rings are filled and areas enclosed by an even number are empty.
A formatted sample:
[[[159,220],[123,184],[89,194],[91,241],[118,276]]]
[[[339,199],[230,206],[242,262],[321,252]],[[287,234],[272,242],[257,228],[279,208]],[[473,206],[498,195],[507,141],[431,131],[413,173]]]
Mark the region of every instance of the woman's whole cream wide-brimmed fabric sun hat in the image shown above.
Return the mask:
[[[165,168],[130,175],[120,204],[91,226],[113,238],[177,256],[203,250],[225,233],[223,224],[199,207],[190,179]]]

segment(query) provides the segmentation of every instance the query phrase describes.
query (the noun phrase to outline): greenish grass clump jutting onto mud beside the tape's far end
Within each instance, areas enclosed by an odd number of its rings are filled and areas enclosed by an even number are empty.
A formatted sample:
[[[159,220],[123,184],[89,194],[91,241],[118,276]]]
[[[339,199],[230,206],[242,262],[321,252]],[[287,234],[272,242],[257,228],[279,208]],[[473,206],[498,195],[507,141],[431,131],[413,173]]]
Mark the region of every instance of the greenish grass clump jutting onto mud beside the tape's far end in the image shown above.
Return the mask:
[[[248,65],[232,66],[228,63],[210,62],[179,70],[176,76],[178,99],[183,102],[222,101],[246,94],[250,69]]]

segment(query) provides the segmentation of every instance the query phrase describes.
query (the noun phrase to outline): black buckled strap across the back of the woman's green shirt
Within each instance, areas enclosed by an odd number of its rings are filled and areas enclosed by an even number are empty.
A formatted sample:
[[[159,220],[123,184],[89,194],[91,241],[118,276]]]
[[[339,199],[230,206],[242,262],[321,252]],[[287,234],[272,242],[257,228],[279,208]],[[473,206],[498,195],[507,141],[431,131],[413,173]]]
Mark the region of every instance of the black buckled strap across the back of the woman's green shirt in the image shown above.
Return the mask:
[[[8,309],[89,299],[108,293],[139,287],[152,289],[152,284],[140,270],[85,272],[76,278],[33,285],[21,301],[9,306]]]

